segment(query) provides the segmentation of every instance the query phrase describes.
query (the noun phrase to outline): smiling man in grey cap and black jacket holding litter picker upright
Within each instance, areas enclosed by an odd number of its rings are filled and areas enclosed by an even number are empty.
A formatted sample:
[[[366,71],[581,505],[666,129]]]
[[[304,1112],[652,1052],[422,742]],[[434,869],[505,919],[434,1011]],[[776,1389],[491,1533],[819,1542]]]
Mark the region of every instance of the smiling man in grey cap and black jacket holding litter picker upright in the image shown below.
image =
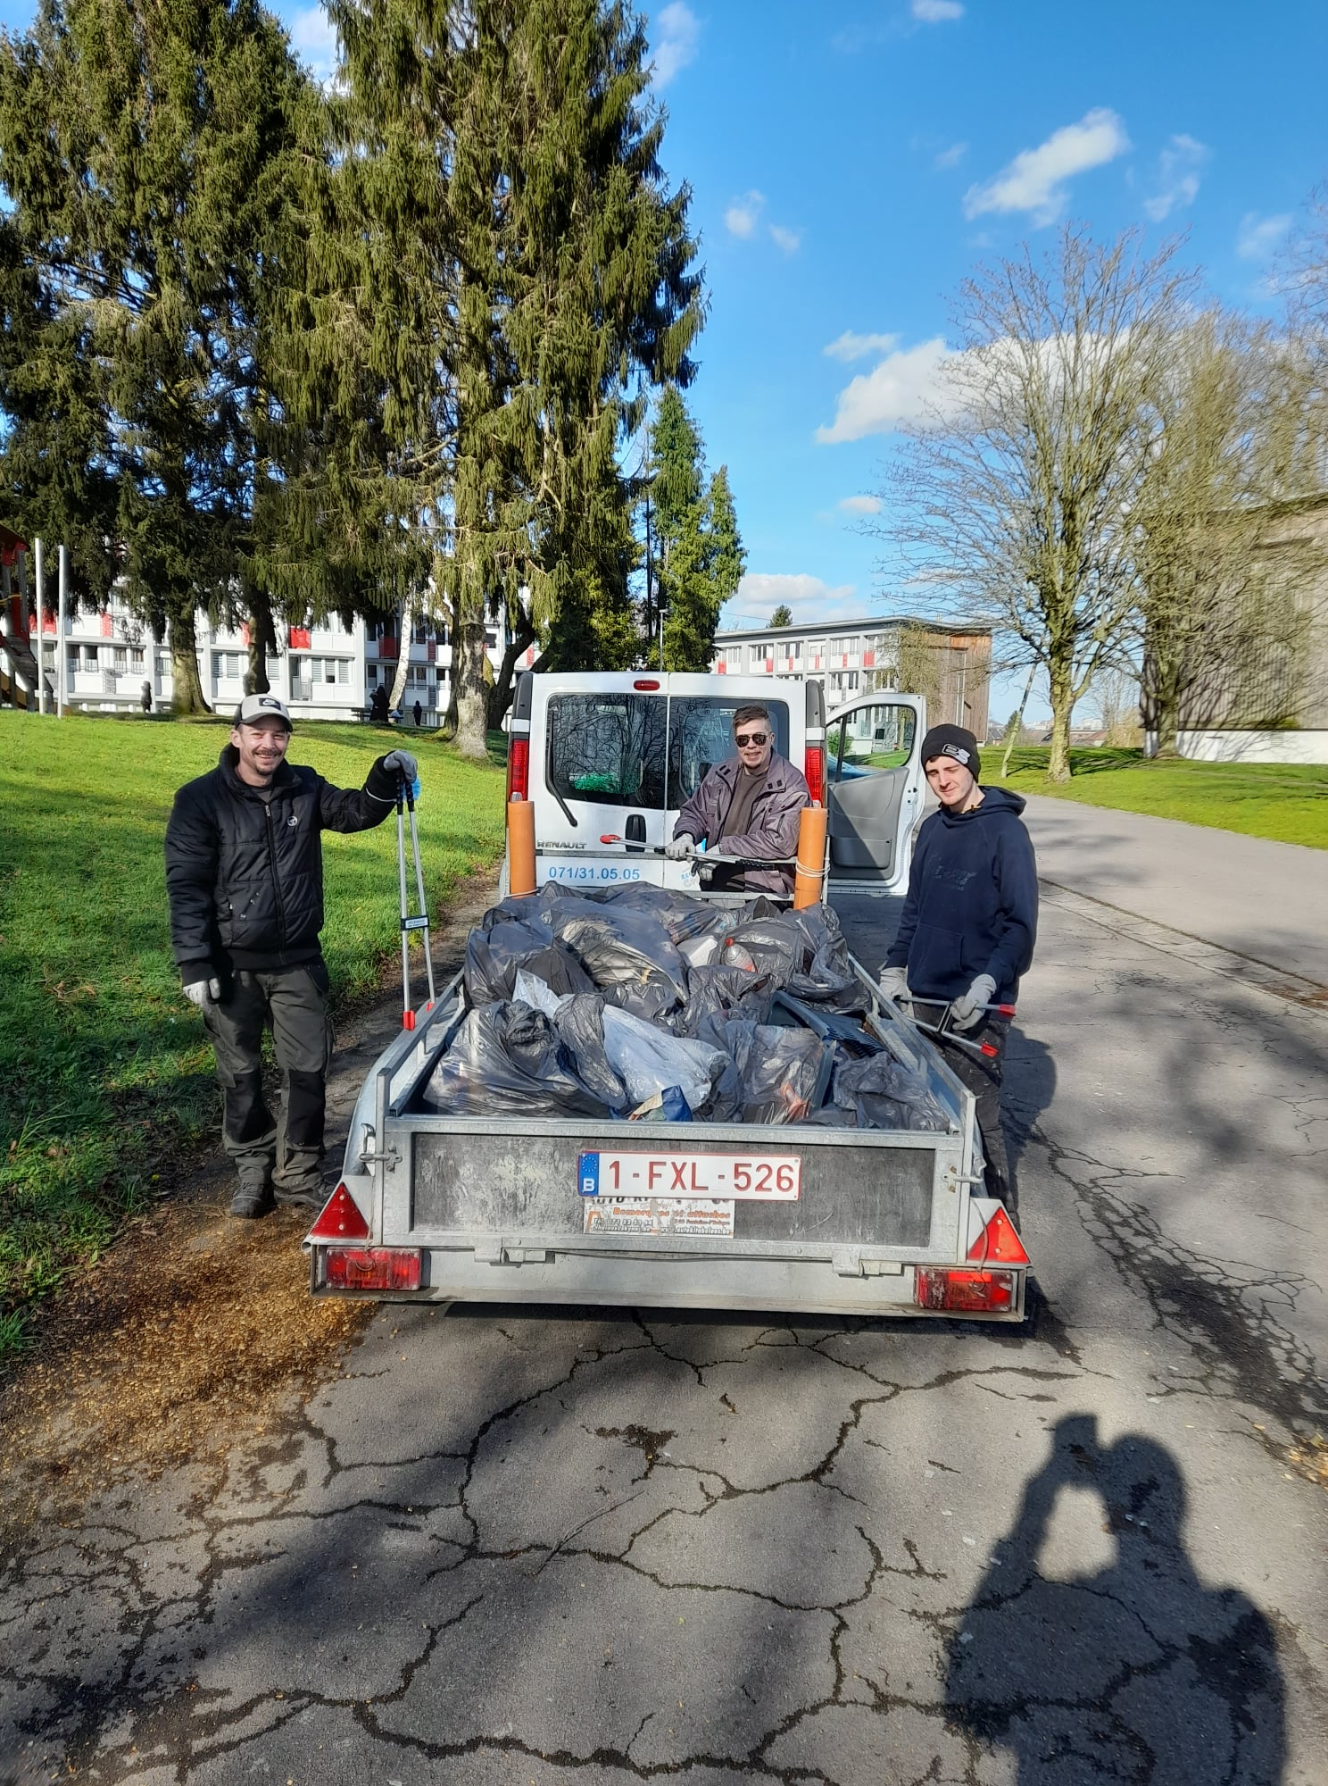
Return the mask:
[[[323,1204],[325,1077],[332,1059],[323,929],[323,830],[368,830],[416,780],[407,750],[378,757],[359,789],[286,761],[291,714],[246,695],[211,773],[175,795],[166,827],[171,945],[184,995],[216,1048],[234,1216]],[[262,1032],[282,1075],[280,1129],[262,1095]]]

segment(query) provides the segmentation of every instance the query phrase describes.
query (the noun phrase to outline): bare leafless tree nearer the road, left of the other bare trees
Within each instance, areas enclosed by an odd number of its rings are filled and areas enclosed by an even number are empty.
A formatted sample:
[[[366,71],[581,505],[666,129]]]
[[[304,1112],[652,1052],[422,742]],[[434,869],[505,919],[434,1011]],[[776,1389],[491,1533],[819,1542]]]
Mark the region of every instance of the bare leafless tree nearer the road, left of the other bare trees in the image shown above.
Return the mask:
[[[960,352],[907,436],[876,523],[937,600],[962,604],[1042,664],[1051,780],[1069,722],[1119,652],[1137,595],[1128,516],[1148,468],[1150,411],[1191,275],[1135,232],[980,270],[960,288]]]

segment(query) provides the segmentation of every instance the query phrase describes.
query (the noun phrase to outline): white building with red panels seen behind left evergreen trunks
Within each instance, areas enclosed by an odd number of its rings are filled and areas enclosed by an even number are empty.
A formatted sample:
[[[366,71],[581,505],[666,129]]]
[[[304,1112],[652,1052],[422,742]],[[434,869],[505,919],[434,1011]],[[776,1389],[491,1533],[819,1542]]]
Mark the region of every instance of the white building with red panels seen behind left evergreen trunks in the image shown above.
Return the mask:
[[[203,697],[218,713],[237,707],[248,673],[248,627],[218,627],[196,616],[198,677]],[[289,705],[293,718],[364,720],[373,691],[391,693],[400,661],[394,616],[375,623],[355,620],[344,627],[332,614],[309,627],[278,627],[277,654],[268,657],[273,693]],[[36,652],[36,636],[30,639]],[[494,672],[507,648],[502,623],[486,629],[486,650]],[[443,622],[419,620],[407,641],[407,680],[402,714],[411,723],[419,702],[419,723],[439,725],[448,707],[452,645]],[[54,686],[57,673],[55,616],[46,614],[41,663]],[[528,668],[534,648],[519,661]],[[152,707],[170,705],[171,654],[148,627],[112,597],[102,613],[70,614],[64,636],[64,700],[73,713],[123,713],[143,705],[145,684]]]

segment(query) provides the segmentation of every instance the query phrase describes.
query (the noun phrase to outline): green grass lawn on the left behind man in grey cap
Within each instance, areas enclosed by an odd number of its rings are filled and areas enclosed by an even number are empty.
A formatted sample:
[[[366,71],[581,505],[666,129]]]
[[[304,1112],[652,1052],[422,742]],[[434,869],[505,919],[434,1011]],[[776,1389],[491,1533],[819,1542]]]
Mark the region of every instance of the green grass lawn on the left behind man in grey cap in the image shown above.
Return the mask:
[[[0,1359],[216,1127],[211,1048],[171,963],[162,834],[175,789],[216,764],[227,732],[0,713]],[[291,761],[357,788],[396,741],[300,725]],[[502,850],[503,780],[428,734],[400,743],[419,757],[436,907]],[[400,961],[396,820],[323,847],[323,948],[344,1002]]]

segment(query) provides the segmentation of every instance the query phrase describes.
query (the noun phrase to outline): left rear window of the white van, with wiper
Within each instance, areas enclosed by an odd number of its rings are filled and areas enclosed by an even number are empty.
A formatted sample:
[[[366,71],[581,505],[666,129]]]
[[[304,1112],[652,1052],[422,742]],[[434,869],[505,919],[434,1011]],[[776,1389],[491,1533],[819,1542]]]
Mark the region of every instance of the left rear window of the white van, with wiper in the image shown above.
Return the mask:
[[[587,805],[664,804],[662,695],[553,695],[548,786]]]

